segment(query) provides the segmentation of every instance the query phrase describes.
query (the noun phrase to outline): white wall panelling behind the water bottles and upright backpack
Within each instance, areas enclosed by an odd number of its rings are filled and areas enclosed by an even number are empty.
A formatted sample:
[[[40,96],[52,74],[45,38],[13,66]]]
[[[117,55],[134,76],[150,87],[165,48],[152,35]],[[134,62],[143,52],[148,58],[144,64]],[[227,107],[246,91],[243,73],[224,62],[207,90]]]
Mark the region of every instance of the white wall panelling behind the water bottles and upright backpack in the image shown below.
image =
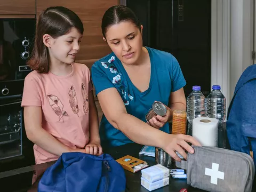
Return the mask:
[[[227,108],[239,77],[253,64],[252,13],[253,0],[212,0],[211,84],[221,85]]]

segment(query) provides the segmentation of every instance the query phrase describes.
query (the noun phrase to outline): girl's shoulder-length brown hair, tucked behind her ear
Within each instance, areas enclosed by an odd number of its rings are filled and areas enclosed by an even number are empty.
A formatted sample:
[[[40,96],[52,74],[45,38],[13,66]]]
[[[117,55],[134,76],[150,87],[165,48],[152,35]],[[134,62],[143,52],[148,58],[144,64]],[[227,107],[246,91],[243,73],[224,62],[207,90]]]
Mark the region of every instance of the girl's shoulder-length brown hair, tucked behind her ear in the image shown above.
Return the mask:
[[[43,43],[45,34],[53,38],[60,37],[69,33],[75,27],[79,33],[83,34],[84,27],[81,19],[76,13],[62,6],[49,7],[39,15],[35,45],[28,60],[28,66],[38,73],[49,72],[49,50]]]

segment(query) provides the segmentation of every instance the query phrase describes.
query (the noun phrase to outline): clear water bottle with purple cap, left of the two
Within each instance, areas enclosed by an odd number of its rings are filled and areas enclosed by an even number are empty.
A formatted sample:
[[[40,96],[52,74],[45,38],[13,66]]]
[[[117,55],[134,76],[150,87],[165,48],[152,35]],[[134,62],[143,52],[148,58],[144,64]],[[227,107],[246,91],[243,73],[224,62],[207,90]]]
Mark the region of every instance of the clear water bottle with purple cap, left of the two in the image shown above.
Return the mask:
[[[193,91],[187,98],[187,134],[192,136],[193,119],[197,117],[206,117],[206,99],[201,92],[201,86],[193,86]]]

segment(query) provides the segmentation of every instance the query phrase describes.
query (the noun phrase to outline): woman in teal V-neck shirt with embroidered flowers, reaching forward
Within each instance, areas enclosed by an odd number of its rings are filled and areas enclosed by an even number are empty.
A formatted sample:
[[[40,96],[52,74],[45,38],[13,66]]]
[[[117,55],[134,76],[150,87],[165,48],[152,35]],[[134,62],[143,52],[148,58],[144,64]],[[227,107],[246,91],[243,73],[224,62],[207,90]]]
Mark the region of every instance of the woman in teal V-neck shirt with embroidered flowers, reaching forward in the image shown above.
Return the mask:
[[[92,79],[104,116],[100,124],[103,147],[137,142],[163,148],[174,159],[178,151],[186,158],[188,143],[199,143],[188,135],[172,135],[169,122],[175,109],[186,110],[186,81],[178,61],[170,54],[142,46],[142,25],[126,6],[110,7],[102,18],[103,40],[113,51],[95,62]],[[145,115],[155,101],[167,113],[146,123]],[[161,130],[161,131],[159,131]]]

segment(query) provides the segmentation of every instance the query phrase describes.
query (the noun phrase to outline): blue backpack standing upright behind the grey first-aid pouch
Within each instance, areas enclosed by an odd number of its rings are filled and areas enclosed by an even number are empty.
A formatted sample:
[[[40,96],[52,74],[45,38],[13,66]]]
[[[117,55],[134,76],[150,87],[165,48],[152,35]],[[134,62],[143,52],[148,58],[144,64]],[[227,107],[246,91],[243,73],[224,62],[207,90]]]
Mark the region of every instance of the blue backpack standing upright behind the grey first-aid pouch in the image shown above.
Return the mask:
[[[232,150],[253,151],[256,166],[256,65],[248,67],[236,85],[228,109],[227,135]]]

